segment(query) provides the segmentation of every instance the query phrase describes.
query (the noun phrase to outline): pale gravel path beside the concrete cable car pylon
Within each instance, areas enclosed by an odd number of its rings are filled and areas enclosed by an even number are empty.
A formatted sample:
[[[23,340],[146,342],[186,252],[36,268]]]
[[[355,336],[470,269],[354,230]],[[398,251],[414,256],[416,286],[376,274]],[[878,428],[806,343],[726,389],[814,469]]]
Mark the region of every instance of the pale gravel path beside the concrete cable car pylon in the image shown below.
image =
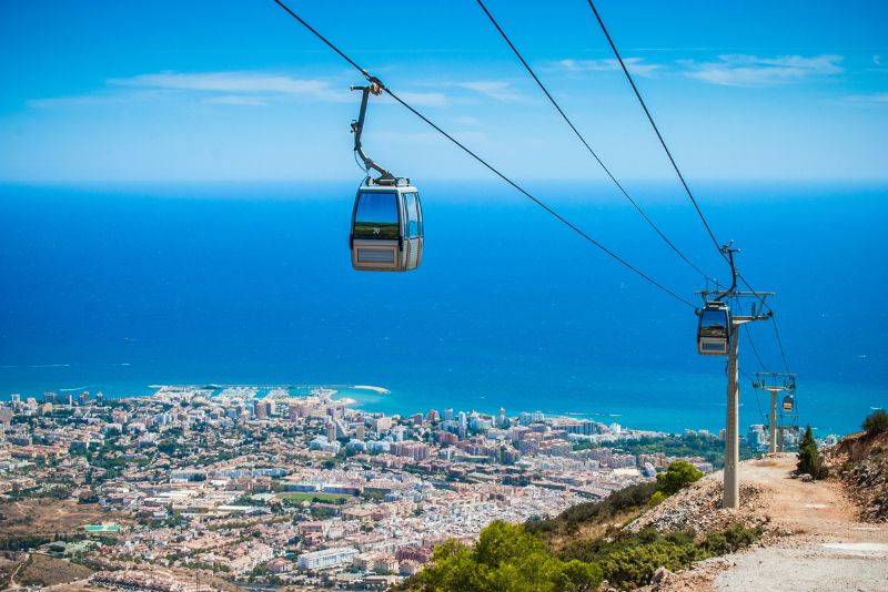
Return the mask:
[[[740,482],[757,496],[748,504],[741,499],[741,513],[766,524],[761,543],[699,563],[652,589],[888,592],[888,525],[859,522],[839,482],[791,479],[794,468],[793,455],[743,462]],[[707,479],[717,482],[720,474]]]

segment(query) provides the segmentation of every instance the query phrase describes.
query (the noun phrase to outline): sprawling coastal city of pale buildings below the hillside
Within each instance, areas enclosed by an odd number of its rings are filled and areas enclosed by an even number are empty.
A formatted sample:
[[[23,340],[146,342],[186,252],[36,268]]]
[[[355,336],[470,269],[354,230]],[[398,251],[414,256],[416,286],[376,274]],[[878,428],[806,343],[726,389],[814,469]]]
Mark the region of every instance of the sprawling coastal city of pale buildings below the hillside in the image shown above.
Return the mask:
[[[0,507],[7,535],[20,527],[24,547],[89,568],[94,586],[383,589],[447,539],[554,517],[675,460],[710,472],[723,446],[706,430],[669,436],[539,411],[389,416],[326,387],[155,388],[2,404],[0,494],[26,508]],[[40,518],[53,503],[70,520],[48,532]]]

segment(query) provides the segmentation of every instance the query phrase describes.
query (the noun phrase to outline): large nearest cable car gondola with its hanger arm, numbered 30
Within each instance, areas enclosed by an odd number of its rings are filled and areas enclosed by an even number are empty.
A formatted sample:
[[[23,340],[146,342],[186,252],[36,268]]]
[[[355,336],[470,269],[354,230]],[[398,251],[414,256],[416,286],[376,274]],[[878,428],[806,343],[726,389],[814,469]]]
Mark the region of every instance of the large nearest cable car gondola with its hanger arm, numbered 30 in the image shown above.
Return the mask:
[[[363,162],[367,175],[357,188],[352,208],[352,231],[349,248],[352,267],[369,272],[408,272],[420,266],[423,254],[423,211],[420,192],[408,178],[395,177],[370,159],[361,145],[361,133],[370,94],[379,95],[382,83],[370,79],[370,85],[352,86],[362,91],[361,112],[352,123],[354,152]]]

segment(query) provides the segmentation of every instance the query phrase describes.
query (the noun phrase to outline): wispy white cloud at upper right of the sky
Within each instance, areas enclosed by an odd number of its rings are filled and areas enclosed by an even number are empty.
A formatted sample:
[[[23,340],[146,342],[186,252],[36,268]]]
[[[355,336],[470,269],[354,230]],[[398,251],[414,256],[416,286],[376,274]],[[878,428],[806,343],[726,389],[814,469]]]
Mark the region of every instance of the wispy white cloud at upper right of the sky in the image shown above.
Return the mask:
[[[757,55],[725,54],[716,61],[683,61],[688,68],[689,78],[710,84],[727,86],[771,86],[804,80],[839,74],[845,71],[839,65],[841,55],[825,54],[806,58],[803,55],[780,55],[759,58]]]

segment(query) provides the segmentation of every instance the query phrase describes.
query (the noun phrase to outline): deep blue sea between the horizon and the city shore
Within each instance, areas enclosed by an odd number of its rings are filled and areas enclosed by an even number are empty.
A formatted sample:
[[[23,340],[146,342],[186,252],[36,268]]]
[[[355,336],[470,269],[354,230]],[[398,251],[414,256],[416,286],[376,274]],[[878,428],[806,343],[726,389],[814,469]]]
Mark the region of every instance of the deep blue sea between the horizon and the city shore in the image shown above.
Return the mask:
[[[420,184],[423,264],[359,273],[355,183],[0,186],[0,396],[145,395],[152,384],[359,384],[369,409],[575,414],[718,430],[725,361],[696,317],[519,194]],[[609,187],[528,182],[602,243],[696,303],[703,279]],[[757,289],[774,290],[799,421],[854,431],[888,405],[888,187],[696,188]],[[648,215],[702,268],[729,273],[675,184],[636,183]],[[770,323],[749,327],[783,370]],[[746,372],[763,368],[741,341]],[[741,429],[766,411],[748,379]],[[350,395],[354,395],[350,392]]]

